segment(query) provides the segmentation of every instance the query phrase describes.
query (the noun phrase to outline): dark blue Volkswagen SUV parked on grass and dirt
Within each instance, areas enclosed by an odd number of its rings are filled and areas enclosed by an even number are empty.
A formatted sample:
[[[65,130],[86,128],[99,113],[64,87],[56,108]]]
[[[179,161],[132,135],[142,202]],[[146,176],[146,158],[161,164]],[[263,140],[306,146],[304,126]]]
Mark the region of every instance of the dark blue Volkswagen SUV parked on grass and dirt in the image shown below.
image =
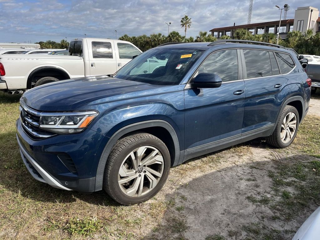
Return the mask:
[[[278,45],[163,44],[113,76],[25,92],[17,140],[36,180],[104,189],[136,204],[162,188],[170,166],[190,158],[258,137],[289,146],[308,112],[310,86],[297,57]]]

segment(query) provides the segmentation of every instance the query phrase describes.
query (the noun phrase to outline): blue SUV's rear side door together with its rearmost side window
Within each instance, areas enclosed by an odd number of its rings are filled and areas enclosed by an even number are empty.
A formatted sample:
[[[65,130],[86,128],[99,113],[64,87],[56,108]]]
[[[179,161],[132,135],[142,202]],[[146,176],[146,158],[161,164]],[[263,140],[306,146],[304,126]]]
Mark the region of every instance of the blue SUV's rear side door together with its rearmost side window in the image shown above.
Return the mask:
[[[281,108],[281,90],[294,62],[289,54],[256,50],[241,50],[244,59],[245,107],[242,138],[270,131]],[[283,71],[279,70],[283,66]],[[280,68],[281,69],[281,68]]]

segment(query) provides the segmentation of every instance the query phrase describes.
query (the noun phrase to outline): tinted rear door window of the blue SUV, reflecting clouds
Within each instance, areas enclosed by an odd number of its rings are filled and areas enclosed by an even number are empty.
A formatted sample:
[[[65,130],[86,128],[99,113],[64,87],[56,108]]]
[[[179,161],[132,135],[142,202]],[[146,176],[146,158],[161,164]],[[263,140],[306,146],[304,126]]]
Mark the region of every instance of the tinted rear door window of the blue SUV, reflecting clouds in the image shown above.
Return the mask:
[[[272,76],[271,62],[268,51],[243,50],[247,78]]]

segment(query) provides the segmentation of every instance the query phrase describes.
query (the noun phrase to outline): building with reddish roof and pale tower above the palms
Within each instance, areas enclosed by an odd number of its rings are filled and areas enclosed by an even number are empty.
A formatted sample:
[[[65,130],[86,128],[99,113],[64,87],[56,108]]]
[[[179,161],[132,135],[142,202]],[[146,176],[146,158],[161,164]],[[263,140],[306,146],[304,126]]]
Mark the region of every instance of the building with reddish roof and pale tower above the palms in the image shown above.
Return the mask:
[[[320,32],[319,11],[314,7],[298,7],[294,14],[294,19],[281,20],[280,34],[285,39],[288,32],[292,30],[305,32],[307,29],[313,29],[313,33]],[[212,36],[220,38],[223,35],[233,36],[236,29],[244,28],[252,34],[278,33],[279,20],[270,22],[259,22],[252,24],[244,24],[231,27],[213,28],[210,30]]]

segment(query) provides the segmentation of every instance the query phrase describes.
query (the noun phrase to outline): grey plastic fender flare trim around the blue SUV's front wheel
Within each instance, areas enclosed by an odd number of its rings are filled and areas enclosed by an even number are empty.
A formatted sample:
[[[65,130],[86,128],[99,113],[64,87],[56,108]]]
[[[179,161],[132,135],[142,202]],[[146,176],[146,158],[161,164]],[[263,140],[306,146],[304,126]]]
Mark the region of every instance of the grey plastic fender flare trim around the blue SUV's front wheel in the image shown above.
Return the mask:
[[[150,120],[150,121],[130,124],[116,131],[111,136],[106,146],[104,147],[103,152],[100,156],[98,167],[97,167],[94,191],[102,190],[105,166],[108,160],[108,156],[112,150],[112,147],[115,145],[116,141],[129,132],[138,131],[140,129],[148,128],[148,127],[163,127],[170,133],[173,140],[174,149],[175,149],[175,157],[174,157],[173,165],[178,164],[179,158],[180,158],[179,139],[176,132],[174,131],[174,128],[171,126],[171,124],[169,124],[164,120]]]

